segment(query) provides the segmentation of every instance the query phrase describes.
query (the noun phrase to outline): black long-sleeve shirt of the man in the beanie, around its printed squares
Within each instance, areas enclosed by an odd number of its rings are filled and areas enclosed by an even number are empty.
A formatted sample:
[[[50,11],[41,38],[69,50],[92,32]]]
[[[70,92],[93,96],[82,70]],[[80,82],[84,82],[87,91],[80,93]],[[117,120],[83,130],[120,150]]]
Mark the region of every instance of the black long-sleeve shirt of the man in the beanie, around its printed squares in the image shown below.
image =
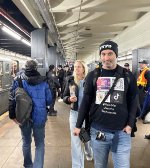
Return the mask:
[[[118,67],[118,66],[117,66]],[[114,70],[102,69],[101,77],[114,77],[117,68]],[[124,70],[126,71],[126,70]],[[99,105],[95,104],[96,89],[93,84],[94,71],[90,72],[85,81],[84,96],[79,109],[79,115],[76,123],[77,128],[81,128],[87,115],[92,119],[92,126],[110,130],[122,130],[126,125],[133,127],[137,111],[137,85],[131,72],[122,75],[124,81],[124,91],[115,91],[120,94],[120,102],[103,103],[101,109],[97,110]],[[129,79],[129,80],[128,80]],[[112,95],[115,95],[115,92]],[[113,97],[110,96],[110,99]],[[111,100],[110,100],[111,101]],[[113,107],[114,106],[114,107]],[[107,110],[106,110],[107,109]]]

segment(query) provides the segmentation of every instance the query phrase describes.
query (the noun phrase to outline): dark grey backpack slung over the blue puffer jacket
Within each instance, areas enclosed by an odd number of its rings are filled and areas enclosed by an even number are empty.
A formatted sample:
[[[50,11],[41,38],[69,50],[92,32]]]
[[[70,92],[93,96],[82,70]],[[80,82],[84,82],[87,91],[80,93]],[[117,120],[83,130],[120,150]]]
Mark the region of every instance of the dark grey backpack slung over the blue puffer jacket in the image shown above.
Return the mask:
[[[17,78],[18,88],[15,90],[15,100],[16,100],[16,120],[23,124],[24,122],[30,120],[32,112],[32,99],[28,93],[24,90],[21,78]]]

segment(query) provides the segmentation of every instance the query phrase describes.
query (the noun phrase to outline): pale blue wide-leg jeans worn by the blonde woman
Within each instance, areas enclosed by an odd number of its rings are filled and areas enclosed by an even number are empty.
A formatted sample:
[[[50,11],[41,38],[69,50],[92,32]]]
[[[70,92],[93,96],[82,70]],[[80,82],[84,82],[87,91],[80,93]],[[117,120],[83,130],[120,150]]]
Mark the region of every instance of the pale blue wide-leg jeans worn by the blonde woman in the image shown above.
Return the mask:
[[[91,145],[90,141],[87,142],[85,147],[80,141],[78,136],[73,135],[73,130],[76,126],[78,118],[78,112],[71,110],[70,111],[70,133],[71,133],[71,156],[72,156],[72,168],[84,168],[84,149],[85,153],[91,154]]]

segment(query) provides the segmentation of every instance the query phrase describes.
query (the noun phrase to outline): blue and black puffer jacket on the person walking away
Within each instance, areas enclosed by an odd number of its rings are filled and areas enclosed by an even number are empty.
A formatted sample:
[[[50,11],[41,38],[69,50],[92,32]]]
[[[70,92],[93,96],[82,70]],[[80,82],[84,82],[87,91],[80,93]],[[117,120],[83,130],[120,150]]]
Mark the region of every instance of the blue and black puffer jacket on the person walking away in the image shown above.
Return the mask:
[[[46,77],[40,76],[37,71],[25,72],[20,76],[24,90],[29,94],[32,99],[33,108],[31,119],[33,124],[45,124],[47,120],[46,106],[49,106],[52,101],[51,91],[46,82]],[[15,119],[15,90],[18,87],[17,78],[14,79],[10,89],[9,95],[9,117]]]

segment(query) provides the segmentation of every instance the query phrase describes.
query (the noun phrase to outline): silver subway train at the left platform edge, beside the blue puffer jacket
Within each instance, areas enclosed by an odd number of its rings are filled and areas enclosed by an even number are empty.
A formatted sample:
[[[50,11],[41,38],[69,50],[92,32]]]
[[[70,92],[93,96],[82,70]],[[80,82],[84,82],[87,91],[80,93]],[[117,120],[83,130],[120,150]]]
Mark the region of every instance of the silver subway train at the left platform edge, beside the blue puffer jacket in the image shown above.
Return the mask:
[[[0,115],[8,110],[8,95],[13,78],[29,59],[31,58],[0,49]]]

